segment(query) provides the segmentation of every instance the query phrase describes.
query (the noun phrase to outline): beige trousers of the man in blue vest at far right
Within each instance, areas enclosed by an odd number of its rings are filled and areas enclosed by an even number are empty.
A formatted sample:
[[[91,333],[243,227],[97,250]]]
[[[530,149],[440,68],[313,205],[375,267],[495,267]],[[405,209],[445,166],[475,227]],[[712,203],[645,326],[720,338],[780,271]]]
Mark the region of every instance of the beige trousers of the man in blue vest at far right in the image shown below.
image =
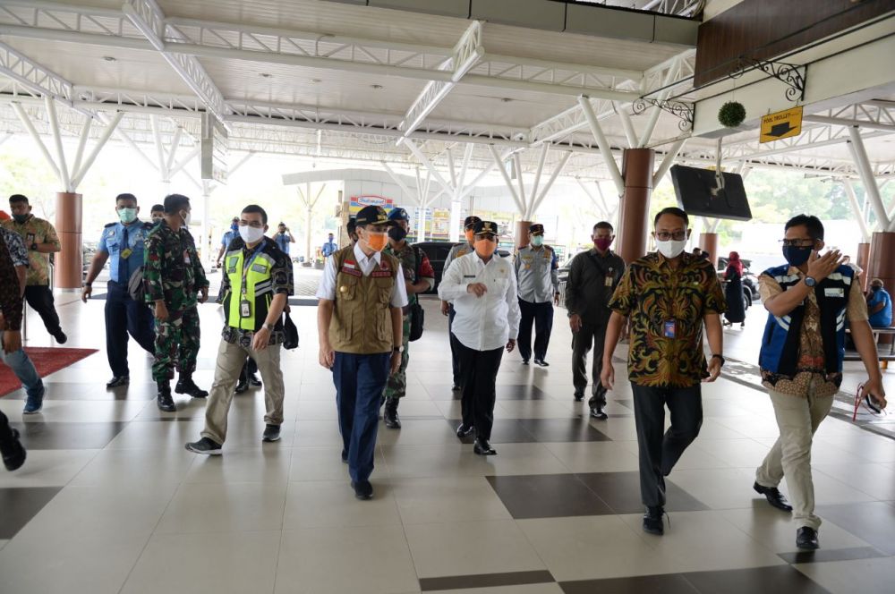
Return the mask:
[[[817,530],[821,519],[814,515],[811,444],[814,432],[830,412],[833,397],[815,396],[814,382],[806,398],[769,392],[780,437],[755,471],[755,481],[763,487],[777,487],[785,475],[793,521],[798,528],[807,526]]]

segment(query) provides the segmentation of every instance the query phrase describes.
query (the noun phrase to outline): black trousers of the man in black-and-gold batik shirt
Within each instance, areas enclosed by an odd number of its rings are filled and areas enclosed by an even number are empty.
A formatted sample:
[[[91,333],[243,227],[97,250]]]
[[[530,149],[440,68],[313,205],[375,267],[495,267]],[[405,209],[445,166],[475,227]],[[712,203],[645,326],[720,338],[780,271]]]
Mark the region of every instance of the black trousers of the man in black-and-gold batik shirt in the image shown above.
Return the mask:
[[[647,387],[631,384],[640,451],[640,496],[644,505],[665,505],[665,477],[703,425],[702,386]],[[665,431],[665,406],[671,426]]]

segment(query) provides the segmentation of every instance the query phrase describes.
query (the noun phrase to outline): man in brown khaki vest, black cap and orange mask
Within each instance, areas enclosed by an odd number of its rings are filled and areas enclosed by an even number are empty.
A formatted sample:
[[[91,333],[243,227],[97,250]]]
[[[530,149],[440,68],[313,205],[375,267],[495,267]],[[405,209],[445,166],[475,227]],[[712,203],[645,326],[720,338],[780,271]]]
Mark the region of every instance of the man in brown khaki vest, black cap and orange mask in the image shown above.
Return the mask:
[[[333,371],[342,461],[348,463],[358,499],[370,499],[379,400],[388,376],[401,366],[407,305],[404,271],[382,253],[388,227],[380,207],[364,207],[355,219],[358,242],[326,260],[317,297],[320,365]]]

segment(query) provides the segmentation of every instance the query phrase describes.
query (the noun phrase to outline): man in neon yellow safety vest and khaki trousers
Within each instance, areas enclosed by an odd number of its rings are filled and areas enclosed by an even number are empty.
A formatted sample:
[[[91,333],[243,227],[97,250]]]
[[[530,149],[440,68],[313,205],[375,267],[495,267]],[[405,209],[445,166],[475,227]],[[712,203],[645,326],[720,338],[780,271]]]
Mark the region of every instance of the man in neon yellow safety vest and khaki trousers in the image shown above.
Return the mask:
[[[221,286],[226,325],[217,348],[215,382],[205,410],[205,430],[199,441],[186,445],[197,454],[220,454],[226,439],[226,418],[233,401],[236,379],[246,355],[258,363],[264,378],[262,441],[278,441],[283,424],[286,389],[280,369],[283,344],[283,310],[293,293],[292,262],[264,236],[268,214],[257,204],[243,208],[239,237],[230,242]]]

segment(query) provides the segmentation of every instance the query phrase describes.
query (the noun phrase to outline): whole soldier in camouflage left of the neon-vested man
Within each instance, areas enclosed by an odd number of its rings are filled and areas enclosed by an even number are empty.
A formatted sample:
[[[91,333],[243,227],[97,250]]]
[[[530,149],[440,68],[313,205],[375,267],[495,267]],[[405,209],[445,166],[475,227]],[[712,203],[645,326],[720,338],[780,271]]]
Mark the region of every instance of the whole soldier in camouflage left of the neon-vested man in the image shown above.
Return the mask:
[[[177,410],[170,384],[175,367],[180,372],[175,386],[177,394],[193,398],[209,395],[192,381],[200,338],[196,303],[208,301],[209,281],[187,230],[191,210],[186,196],[166,196],[165,218],[149,232],[143,250],[146,301],[156,308],[156,358],[152,378],[158,384],[158,408],[166,412]],[[199,292],[201,297],[197,296]]]

